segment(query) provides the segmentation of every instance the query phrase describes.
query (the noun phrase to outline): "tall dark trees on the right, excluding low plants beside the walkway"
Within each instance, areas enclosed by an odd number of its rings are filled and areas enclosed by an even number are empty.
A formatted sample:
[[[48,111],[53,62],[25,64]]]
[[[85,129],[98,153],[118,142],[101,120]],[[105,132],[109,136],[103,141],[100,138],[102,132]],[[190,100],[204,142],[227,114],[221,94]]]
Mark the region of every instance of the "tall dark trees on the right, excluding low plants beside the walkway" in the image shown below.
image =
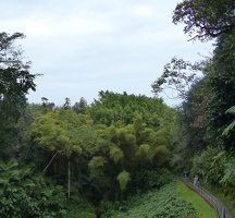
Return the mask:
[[[217,39],[212,58],[194,64],[173,58],[152,84],[154,94],[166,86],[184,100],[177,126],[177,131],[182,131],[180,135],[174,134],[172,142],[176,153],[174,160],[200,153],[209,141],[213,146],[235,147],[231,134],[225,140],[221,137],[231,120],[225,111],[234,105],[235,2],[184,0],[177,3],[172,19],[174,24],[185,25],[184,33],[189,35],[189,40]],[[198,72],[202,77],[195,80]]]

